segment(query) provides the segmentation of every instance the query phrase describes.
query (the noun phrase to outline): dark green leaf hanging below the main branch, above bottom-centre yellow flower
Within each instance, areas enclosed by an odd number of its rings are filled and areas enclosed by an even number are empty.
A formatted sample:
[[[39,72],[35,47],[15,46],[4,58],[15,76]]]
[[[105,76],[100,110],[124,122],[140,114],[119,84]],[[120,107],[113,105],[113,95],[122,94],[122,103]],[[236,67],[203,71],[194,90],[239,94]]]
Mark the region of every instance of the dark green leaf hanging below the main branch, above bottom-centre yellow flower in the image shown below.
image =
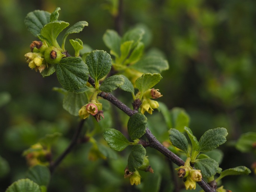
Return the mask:
[[[135,145],[128,157],[128,169],[130,172],[136,171],[137,168],[141,167],[144,162],[146,155],[146,149],[142,145]]]

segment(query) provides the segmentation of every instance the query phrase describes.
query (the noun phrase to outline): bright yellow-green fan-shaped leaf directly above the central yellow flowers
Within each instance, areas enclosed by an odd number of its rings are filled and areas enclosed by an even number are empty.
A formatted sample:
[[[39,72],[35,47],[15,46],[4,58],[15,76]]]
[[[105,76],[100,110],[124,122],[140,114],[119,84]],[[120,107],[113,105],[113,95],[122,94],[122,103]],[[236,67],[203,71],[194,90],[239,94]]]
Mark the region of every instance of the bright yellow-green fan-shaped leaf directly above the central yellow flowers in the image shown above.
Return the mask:
[[[141,91],[141,97],[144,92],[153,86],[155,86],[163,77],[158,73],[144,73],[141,77],[139,77],[136,81],[136,87]]]

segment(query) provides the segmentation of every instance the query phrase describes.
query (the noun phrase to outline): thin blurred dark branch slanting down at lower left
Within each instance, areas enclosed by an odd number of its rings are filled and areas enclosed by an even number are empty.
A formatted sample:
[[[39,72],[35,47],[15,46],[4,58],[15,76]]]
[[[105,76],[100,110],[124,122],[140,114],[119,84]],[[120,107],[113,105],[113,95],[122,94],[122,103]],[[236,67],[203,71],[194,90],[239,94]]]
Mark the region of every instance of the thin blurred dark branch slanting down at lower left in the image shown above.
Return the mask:
[[[67,149],[54,161],[50,163],[50,172],[53,173],[55,168],[61,163],[61,161],[71,152],[71,150],[74,148],[74,146],[77,144],[79,135],[81,133],[81,130],[83,128],[84,119],[80,121],[77,129],[75,130],[75,133],[73,135],[73,138],[70,142],[70,145],[67,147]]]

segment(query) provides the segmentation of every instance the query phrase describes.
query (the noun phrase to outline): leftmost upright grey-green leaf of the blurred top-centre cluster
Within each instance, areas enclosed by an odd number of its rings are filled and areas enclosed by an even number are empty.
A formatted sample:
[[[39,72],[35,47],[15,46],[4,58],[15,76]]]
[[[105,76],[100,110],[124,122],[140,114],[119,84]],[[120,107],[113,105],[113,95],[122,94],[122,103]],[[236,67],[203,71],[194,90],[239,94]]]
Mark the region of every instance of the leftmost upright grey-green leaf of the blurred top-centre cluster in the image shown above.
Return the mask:
[[[114,30],[107,30],[103,35],[105,45],[111,50],[111,55],[120,56],[121,37]]]

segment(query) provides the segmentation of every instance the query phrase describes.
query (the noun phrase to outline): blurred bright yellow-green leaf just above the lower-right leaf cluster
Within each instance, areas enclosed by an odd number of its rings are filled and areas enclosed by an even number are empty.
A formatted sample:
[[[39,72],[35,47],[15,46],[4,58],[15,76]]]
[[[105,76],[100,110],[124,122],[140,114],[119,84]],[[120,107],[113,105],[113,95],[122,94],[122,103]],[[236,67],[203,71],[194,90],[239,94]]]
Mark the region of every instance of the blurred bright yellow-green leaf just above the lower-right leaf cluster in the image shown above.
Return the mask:
[[[186,111],[182,108],[173,108],[172,109],[172,117],[173,117],[173,128],[178,129],[183,132],[184,127],[189,125],[189,116]]]

